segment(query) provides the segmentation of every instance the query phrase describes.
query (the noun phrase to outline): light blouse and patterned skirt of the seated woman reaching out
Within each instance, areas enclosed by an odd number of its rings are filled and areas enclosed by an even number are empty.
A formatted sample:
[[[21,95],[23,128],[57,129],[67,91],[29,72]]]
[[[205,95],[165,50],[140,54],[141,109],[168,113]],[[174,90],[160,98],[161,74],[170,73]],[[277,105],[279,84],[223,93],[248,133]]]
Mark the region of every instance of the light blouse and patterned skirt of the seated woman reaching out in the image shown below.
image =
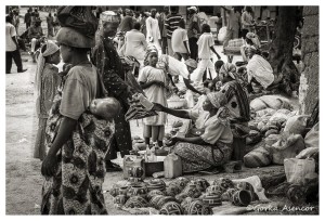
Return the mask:
[[[223,112],[210,117],[207,113],[190,112],[190,117],[200,129],[200,138],[209,145],[178,142],[174,154],[181,157],[183,172],[196,172],[225,164],[232,154],[233,134]],[[200,123],[196,123],[199,120]]]

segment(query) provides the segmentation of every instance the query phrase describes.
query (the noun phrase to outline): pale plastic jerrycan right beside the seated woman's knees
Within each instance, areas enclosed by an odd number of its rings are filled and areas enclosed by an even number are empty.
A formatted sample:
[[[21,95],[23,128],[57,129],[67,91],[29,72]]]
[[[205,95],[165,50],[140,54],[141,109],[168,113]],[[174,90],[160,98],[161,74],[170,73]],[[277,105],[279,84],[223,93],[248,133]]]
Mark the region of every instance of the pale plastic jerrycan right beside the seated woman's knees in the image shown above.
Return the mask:
[[[165,178],[178,178],[182,176],[182,160],[176,154],[169,154],[164,160]]]

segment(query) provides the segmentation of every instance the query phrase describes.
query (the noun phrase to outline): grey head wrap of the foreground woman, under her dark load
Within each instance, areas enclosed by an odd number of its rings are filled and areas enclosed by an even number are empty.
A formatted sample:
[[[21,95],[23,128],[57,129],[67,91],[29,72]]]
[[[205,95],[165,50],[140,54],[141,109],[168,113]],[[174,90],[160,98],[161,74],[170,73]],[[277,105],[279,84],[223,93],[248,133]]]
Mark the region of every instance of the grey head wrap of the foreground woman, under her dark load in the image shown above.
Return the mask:
[[[63,43],[74,48],[93,48],[95,46],[95,39],[89,38],[79,31],[69,28],[69,27],[61,27],[57,35],[56,41],[58,43]]]

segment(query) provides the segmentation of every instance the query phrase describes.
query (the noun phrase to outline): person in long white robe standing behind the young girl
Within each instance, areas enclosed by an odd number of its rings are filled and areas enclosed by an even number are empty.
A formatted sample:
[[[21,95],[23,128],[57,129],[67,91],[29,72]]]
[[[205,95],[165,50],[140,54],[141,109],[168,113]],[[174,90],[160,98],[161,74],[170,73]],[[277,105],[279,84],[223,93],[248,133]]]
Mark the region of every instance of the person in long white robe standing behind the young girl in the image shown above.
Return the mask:
[[[161,54],[161,36],[158,25],[158,20],[156,18],[157,10],[151,10],[151,16],[146,18],[146,41],[151,44],[154,44],[158,50],[158,53]]]

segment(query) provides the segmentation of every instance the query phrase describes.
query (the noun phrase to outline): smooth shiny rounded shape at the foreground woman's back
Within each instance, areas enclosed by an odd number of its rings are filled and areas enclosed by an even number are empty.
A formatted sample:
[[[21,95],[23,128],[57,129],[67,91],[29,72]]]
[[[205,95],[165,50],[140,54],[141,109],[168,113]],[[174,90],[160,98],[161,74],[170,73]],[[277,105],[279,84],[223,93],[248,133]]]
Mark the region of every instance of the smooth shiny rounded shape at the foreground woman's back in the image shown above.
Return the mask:
[[[112,120],[120,112],[120,104],[114,98],[95,99],[90,104],[90,112],[106,120]]]

